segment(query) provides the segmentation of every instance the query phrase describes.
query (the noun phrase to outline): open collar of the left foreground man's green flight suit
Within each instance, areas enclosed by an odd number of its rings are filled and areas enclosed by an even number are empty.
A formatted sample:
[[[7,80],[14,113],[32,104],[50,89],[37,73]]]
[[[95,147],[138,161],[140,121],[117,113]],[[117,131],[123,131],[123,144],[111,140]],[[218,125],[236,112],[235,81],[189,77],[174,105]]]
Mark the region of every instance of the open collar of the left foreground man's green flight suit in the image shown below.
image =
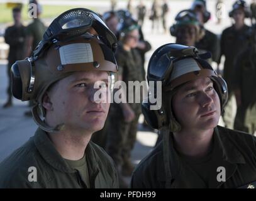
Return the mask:
[[[75,173],[75,170],[70,168],[68,163],[62,158],[62,156],[55,149],[52,141],[48,137],[48,134],[42,129],[38,128],[35,133],[35,146],[38,149],[40,155],[47,163],[53,168],[64,171],[66,173]],[[97,163],[99,161],[96,152],[92,148],[91,142],[86,147],[86,160],[90,174],[90,178],[94,179],[97,176],[99,170],[97,169]],[[93,184],[92,181],[90,183]]]

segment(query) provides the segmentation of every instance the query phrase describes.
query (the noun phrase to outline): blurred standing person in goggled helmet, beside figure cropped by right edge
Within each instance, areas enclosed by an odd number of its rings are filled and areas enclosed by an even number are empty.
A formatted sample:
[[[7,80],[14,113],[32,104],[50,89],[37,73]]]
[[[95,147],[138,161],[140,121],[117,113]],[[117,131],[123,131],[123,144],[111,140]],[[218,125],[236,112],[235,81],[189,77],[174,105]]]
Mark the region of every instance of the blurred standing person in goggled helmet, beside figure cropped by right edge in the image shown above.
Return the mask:
[[[225,56],[225,63],[223,69],[223,78],[226,80],[229,90],[229,99],[225,108],[223,120],[227,128],[233,128],[236,103],[233,95],[233,71],[235,70],[235,58],[245,48],[247,48],[247,34],[250,29],[245,24],[245,18],[250,18],[250,11],[248,10],[245,1],[236,1],[233,4],[233,9],[230,11],[230,17],[234,19],[234,24],[226,28],[221,34],[221,53],[218,63],[221,62],[221,56]]]

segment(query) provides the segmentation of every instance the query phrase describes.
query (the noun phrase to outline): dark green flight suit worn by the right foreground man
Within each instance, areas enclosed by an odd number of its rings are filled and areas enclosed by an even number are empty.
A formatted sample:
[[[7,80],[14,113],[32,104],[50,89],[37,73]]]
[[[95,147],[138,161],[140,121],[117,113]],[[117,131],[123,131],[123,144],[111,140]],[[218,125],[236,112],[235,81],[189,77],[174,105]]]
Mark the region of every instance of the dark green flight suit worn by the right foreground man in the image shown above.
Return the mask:
[[[189,165],[179,155],[172,134],[169,160],[164,160],[167,148],[163,144],[164,140],[136,166],[131,188],[165,188],[167,183],[169,188],[238,188],[256,181],[256,138],[250,134],[214,128],[211,157],[199,161],[202,167]],[[169,163],[169,179],[165,163]],[[223,177],[218,177],[220,173]]]

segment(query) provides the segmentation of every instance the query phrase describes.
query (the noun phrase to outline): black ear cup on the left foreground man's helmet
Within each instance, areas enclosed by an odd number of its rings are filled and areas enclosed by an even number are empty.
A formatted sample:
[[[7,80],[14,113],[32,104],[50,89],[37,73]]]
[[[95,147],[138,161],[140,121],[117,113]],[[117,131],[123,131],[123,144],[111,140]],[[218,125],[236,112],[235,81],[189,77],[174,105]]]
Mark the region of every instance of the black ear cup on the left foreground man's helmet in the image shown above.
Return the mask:
[[[22,99],[22,81],[18,64],[15,62],[11,67],[11,93],[16,99]]]

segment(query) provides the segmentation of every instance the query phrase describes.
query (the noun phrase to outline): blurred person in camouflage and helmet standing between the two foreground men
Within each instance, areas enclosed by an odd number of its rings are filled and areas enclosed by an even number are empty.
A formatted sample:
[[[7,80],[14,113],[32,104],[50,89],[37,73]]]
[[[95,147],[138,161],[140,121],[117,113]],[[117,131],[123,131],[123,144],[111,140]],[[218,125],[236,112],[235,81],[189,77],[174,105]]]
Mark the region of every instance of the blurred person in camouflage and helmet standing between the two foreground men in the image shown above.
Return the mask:
[[[136,50],[139,35],[139,26],[133,21],[123,21],[120,24],[120,42],[116,50],[118,63],[118,80],[123,80],[126,87],[129,81],[142,82],[142,60]],[[140,91],[141,92],[141,91]],[[128,187],[123,177],[130,177],[133,171],[131,150],[136,141],[138,118],[141,114],[140,103],[135,103],[135,97],[142,93],[136,90],[122,94],[125,102],[114,102],[109,109],[109,129],[106,143],[106,152],[113,158],[118,169],[120,187]],[[133,93],[133,102],[128,103],[128,94]],[[125,97],[123,97],[125,95]],[[142,97],[140,96],[140,100]]]

